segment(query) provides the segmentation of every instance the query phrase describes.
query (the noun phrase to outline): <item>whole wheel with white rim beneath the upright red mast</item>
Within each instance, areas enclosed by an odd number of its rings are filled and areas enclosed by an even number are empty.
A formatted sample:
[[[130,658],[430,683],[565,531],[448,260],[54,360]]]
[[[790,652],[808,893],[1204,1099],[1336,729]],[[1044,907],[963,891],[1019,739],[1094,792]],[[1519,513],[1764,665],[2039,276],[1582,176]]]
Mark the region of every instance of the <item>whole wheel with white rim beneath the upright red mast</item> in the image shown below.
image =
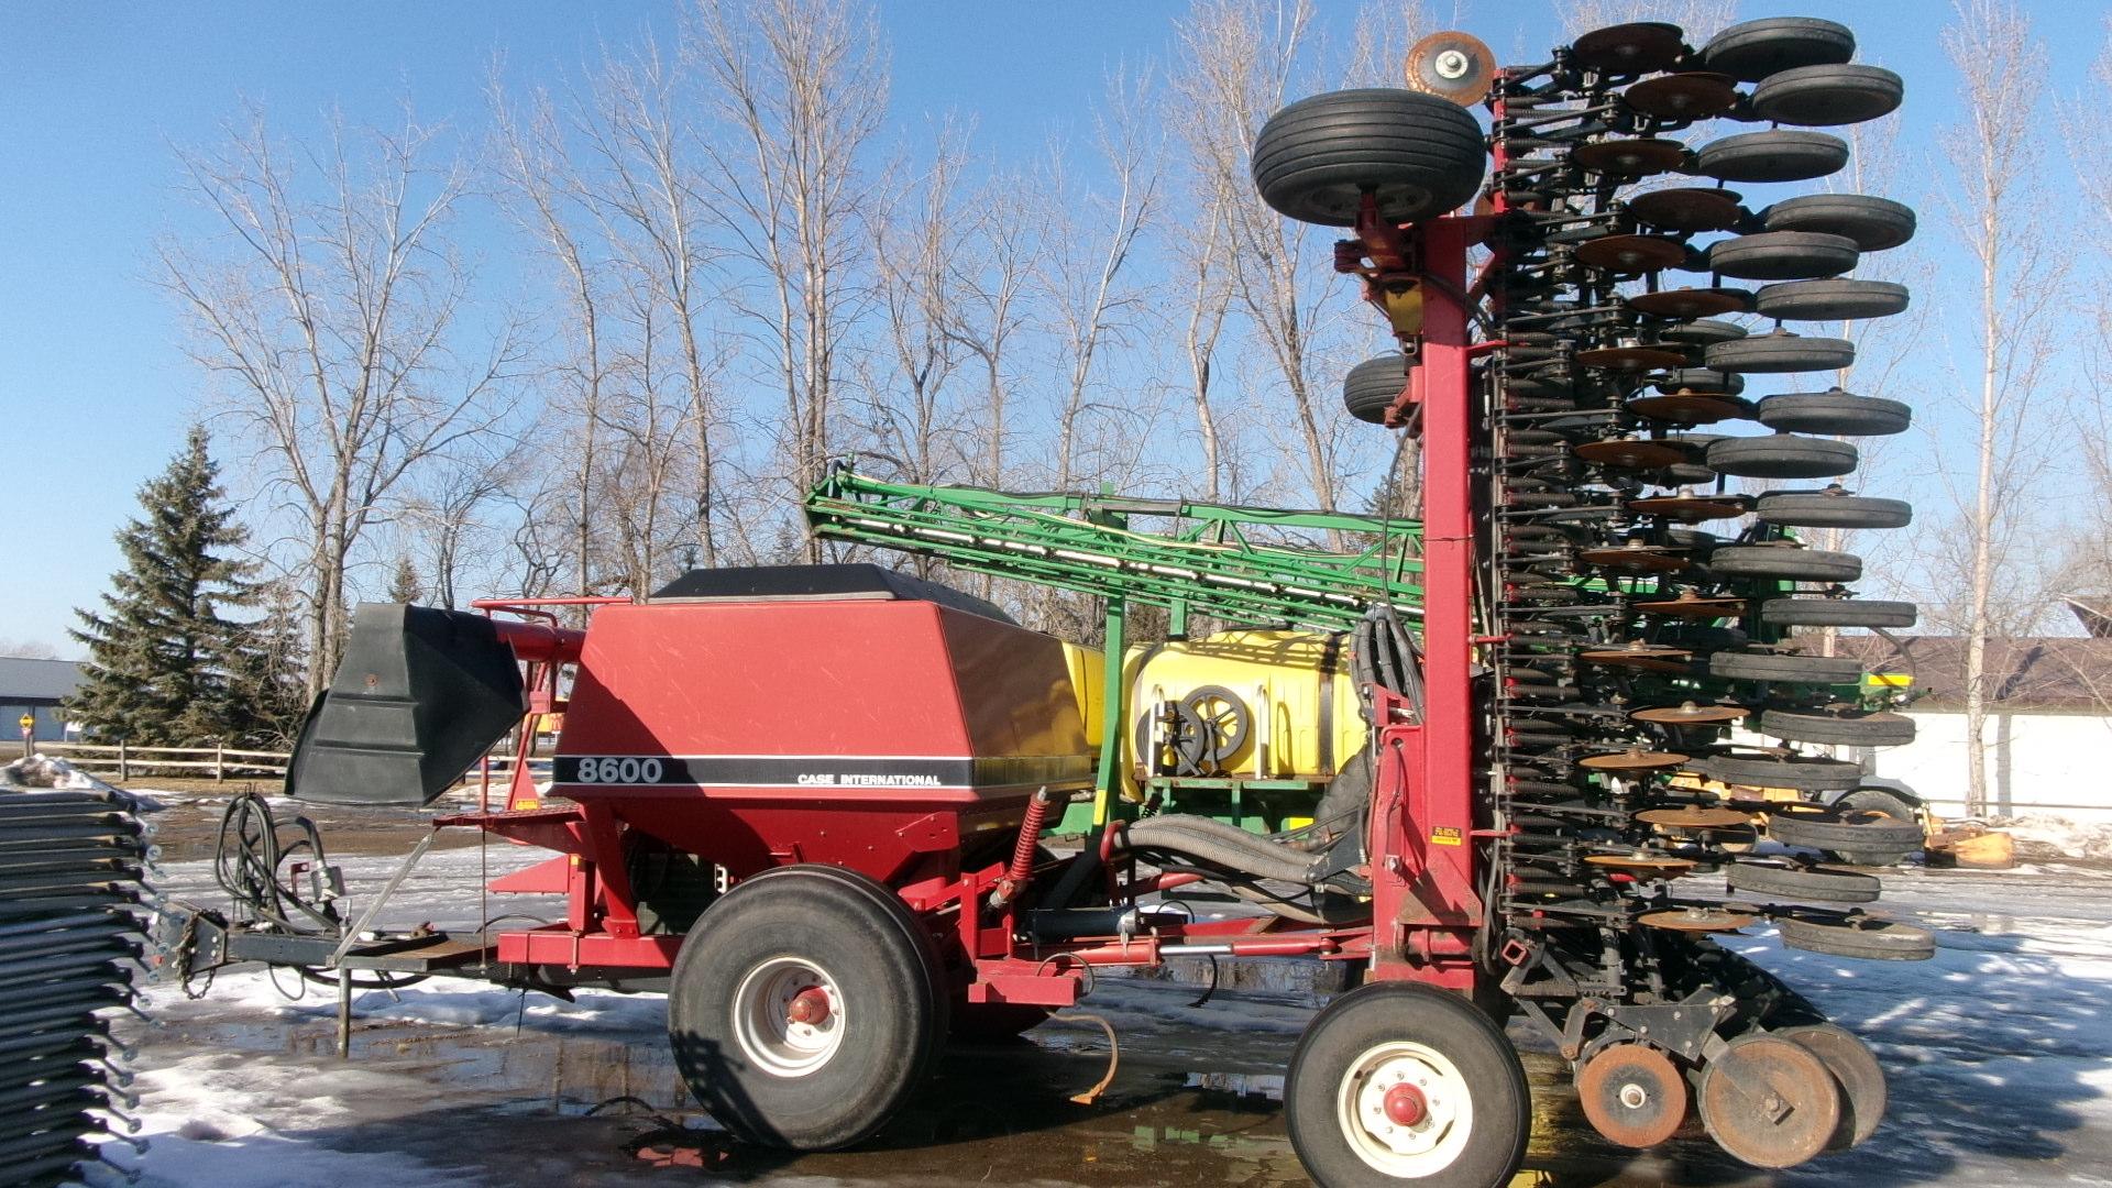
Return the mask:
[[[1352,989],[1305,1027],[1284,1120],[1320,1188],[1495,1188],[1525,1158],[1533,1099],[1489,1015],[1464,996],[1388,981]]]

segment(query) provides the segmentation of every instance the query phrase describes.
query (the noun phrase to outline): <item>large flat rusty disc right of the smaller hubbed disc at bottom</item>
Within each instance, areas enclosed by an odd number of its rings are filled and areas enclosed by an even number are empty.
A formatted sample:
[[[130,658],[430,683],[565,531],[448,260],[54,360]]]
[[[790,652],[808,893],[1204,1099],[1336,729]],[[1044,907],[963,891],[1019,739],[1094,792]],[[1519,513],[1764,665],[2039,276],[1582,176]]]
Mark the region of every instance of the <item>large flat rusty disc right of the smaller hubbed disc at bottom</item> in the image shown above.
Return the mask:
[[[1709,1137],[1753,1167],[1795,1167],[1827,1150],[1842,1120],[1842,1089],[1825,1061],[1795,1040],[1740,1036],[1702,1068],[1700,1114]]]

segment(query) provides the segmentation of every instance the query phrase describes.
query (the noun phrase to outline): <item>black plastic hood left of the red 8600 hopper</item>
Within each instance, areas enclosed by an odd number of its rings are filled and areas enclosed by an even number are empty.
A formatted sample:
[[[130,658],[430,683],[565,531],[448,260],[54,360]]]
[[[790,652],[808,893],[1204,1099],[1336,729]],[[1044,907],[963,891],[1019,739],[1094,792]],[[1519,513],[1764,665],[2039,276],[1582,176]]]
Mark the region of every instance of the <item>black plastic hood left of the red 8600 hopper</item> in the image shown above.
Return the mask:
[[[433,803],[524,710],[520,664],[484,615],[361,602],[338,676],[294,744],[285,795]]]

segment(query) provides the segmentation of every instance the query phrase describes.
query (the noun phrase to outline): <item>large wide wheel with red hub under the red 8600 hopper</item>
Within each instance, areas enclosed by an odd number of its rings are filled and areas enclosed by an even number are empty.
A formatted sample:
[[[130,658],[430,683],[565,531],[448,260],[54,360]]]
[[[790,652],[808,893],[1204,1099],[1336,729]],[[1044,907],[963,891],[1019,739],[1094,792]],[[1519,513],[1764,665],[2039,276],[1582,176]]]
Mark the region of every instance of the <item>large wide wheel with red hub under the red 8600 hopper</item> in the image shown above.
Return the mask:
[[[885,886],[843,867],[765,871],[682,943],[667,989],[676,1068],[748,1141],[851,1146],[931,1072],[946,1036],[936,968],[929,934]]]

